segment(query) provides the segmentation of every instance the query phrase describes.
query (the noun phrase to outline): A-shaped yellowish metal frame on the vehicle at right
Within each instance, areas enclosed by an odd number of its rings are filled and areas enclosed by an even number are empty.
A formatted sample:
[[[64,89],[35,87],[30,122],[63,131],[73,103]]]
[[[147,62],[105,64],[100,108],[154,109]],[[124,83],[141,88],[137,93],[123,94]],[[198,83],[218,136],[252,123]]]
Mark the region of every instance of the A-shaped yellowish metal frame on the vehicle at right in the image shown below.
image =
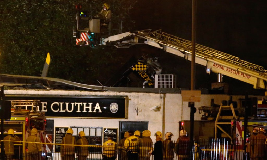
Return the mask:
[[[228,116],[221,115],[223,110],[231,110],[233,115],[228,115]],[[218,111],[218,114],[217,114],[217,117],[216,117],[216,120],[215,120],[215,139],[217,138],[218,129],[221,130],[227,137],[232,139],[232,137],[220,126],[220,125],[230,125],[230,127],[231,127],[231,124],[232,124],[231,120],[232,119],[235,119],[235,120],[237,119],[237,116],[235,115],[233,104],[230,104],[230,106],[223,106],[221,104],[219,111]],[[221,120],[225,120],[225,121],[230,120],[230,122],[221,122]]]

